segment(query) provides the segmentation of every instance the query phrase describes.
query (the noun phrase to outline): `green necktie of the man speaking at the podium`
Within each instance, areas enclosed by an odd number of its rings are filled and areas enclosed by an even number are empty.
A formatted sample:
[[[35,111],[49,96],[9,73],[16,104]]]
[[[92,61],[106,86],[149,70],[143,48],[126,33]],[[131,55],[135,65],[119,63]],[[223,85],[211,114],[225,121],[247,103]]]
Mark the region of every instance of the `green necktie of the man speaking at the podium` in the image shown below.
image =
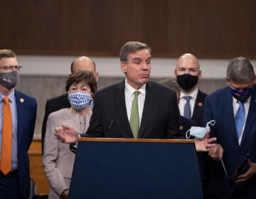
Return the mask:
[[[138,107],[138,95],[139,91],[134,91],[134,99],[132,100],[132,110],[130,117],[130,126],[132,129],[132,134],[134,138],[138,138],[139,134],[139,107]]]

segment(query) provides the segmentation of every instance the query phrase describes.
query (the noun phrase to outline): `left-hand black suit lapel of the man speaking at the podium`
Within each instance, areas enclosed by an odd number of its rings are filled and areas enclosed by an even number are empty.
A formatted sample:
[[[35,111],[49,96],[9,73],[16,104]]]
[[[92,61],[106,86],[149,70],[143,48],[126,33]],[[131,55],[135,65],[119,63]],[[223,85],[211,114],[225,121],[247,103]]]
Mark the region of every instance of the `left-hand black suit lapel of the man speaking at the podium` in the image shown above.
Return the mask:
[[[115,87],[115,103],[117,104],[117,114],[119,117],[119,121],[124,128],[124,132],[127,134],[127,137],[134,137],[132,134],[132,129],[129,126],[129,120],[127,117],[127,109],[125,104],[125,96],[124,96],[124,81],[117,84]]]

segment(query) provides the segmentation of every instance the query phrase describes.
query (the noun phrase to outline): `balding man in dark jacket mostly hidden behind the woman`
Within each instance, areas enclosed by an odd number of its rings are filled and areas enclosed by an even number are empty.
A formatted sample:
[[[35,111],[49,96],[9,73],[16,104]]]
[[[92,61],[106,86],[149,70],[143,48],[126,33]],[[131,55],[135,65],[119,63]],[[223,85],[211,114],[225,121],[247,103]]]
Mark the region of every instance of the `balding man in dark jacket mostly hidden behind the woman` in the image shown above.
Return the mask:
[[[96,65],[95,62],[87,58],[85,56],[75,58],[73,63],[71,63],[71,73],[76,70],[88,70],[93,72],[96,81],[99,79],[99,73],[96,72]],[[58,111],[59,109],[64,109],[70,107],[70,102],[68,101],[68,94],[60,95],[58,97],[54,97],[52,99],[48,99],[46,101],[46,109],[45,115],[43,117],[43,124],[42,124],[42,134],[41,134],[41,141],[42,141],[42,154],[43,154],[43,143],[44,138],[46,136],[46,123],[50,113]]]

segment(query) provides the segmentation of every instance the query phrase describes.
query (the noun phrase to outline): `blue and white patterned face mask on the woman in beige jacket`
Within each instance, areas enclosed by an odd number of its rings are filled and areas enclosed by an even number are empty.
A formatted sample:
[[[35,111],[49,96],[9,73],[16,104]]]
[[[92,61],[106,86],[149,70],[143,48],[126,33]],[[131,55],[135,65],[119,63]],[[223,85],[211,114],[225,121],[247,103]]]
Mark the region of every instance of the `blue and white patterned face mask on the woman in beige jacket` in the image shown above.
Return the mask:
[[[86,92],[68,92],[68,100],[76,110],[87,107],[91,101],[91,94]]]

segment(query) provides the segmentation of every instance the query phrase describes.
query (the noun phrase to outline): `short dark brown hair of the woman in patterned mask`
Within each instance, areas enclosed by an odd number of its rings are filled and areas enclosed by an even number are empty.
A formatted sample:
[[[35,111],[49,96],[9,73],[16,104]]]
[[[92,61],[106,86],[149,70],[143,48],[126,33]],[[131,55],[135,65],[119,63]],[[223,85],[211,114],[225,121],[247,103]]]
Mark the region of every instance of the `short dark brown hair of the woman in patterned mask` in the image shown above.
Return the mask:
[[[72,74],[68,75],[68,80],[66,82],[65,90],[68,92],[70,85],[73,83],[83,82],[90,86],[92,94],[97,91],[97,82],[92,72],[87,70],[77,70]]]

